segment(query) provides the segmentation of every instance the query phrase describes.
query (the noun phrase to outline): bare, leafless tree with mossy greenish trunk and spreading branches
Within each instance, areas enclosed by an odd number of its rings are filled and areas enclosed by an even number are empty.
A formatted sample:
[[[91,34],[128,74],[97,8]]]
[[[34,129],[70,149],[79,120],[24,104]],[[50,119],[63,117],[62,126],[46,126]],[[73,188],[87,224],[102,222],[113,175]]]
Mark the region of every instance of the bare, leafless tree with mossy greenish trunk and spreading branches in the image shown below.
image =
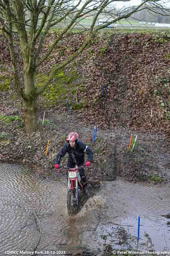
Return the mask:
[[[157,11],[158,7],[159,9],[161,7],[164,15],[169,14],[168,8],[160,5],[162,0],[143,0],[141,4],[133,6],[133,8],[124,6],[119,11],[116,11],[114,3],[118,1],[120,0],[0,0],[0,21],[4,35],[7,35],[9,39],[15,86],[24,101],[25,112],[23,118],[26,133],[34,132],[37,128],[37,97],[44,92],[56,71],[64,68],[72,60],[77,58],[90,43],[94,33],[115,21],[128,18],[133,13],[147,9],[147,4],[149,4],[149,8],[152,11]],[[121,2],[125,3],[129,1],[130,0],[121,0]],[[108,9],[108,6],[113,6],[113,8]],[[106,13],[107,18],[111,18],[112,21],[104,23],[101,26],[95,26],[97,19],[102,13]],[[59,62],[58,65],[52,68],[48,80],[42,87],[36,87],[36,69],[38,69],[42,62],[46,61],[48,56],[54,51],[55,45],[66,36],[66,33],[72,27],[79,24],[79,20],[83,19],[85,15],[92,15],[93,17],[92,25],[89,28],[85,42],[83,42],[78,50],[68,57],[67,60]],[[41,22],[40,26],[38,26],[38,22]],[[61,24],[61,22],[65,22],[65,26],[56,37],[55,41],[50,45],[48,52],[41,58],[41,49],[43,48],[44,39],[48,31],[54,25]],[[29,30],[27,29],[28,26],[30,26]],[[23,58],[23,88],[18,74],[17,56],[14,47],[14,34],[16,32],[18,33]],[[35,47],[37,42],[38,49]]]

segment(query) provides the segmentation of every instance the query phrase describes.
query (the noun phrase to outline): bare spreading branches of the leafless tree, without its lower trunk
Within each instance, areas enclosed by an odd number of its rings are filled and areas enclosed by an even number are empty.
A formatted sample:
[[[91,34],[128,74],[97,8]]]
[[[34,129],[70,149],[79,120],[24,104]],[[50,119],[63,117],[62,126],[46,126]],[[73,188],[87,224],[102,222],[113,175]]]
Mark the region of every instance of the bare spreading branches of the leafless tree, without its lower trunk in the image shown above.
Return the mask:
[[[90,13],[95,11],[95,13],[91,27],[89,29],[88,39],[79,47],[78,51],[72,54],[67,60],[63,61],[60,65],[57,65],[52,69],[52,72],[48,78],[48,81],[40,88],[35,87],[36,96],[41,94],[48,86],[50,81],[53,79],[54,73],[65,67],[68,63],[74,60],[89,44],[92,34],[100,30],[101,28],[106,28],[108,25],[112,24],[115,21],[119,21],[122,19],[127,19],[133,13],[142,11],[144,9],[148,9],[154,13],[160,14],[162,16],[169,15],[169,9],[163,7],[159,4],[160,0],[143,0],[141,4],[138,6],[132,7],[123,7],[121,10],[116,11],[115,8],[111,8],[112,10],[107,12],[106,9],[108,4],[119,2],[120,0],[97,0],[93,2],[92,0],[86,0],[83,6],[78,10],[78,6],[81,6],[82,0],[79,0],[78,4],[73,5],[71,0],[0,0],[0,21],[3,23],[4,17],[8,20],[8,26],[4,26],[5,33],[8,35],[9,43],[10,43],[10,51],[11,51],[11,60],[12,66],[14,70],[14,79],[15,84],[18,87],[18,92],[21,94],[23,99],[26,101],[30,100],[29,95],[23,92],[21,88],[21,82],[18,75],[18,66],[17,66],[17,56],[15,55],[15,48],[13,43],[13,28],[17,28],[19,33],[20,43],[21,43],[21,51],[23,54],[24,60],[24,74],[26,72],[32,72],[29,74],[29,78],[33,78],[35,74],[35,70],[37,67],[41,65],[43,61],[45,61],[48,56],[54,51],[54,48],[59,40],[67,37],[66,32],[72,29],[74,25],[80,24],[78,20],[83,19],[83,17],[89,17]],[[130,0],[122,0],[122,2],[129,2]],[[11,2],[13,5],[11,5]],[[38,4],[37,4],[38,2]],[[94,5],[97,6],[94,6]],[[90,5],[90,6],[89,6]],[[93,7],[94,6],[94,7]],[[85,12],[84,12],[85,11]],[[113,13],[114,12],[114,13]],[[99,18],[99,15],[105,13],[105,15],[109,18],[112,18],[111,21],[102,24],[101,26],[95,27],[96,21]],[[29,16],[31,16],[30,19]],[[40,15],[40,17],[39,17]],[[108,18],[108,20],[109,20]],[[31,20],[30,32],[29,32],[29,41],[28,35],[26,31],[27,22]],[[41,25],[37,28],[38,20],[41,20]],[[42,57],[41,60],[38,60],[41,48],[44,43],[44,38],[47,35],[49,29],[58,23],[67,24],[66,28],[64,28],[56,37],[55,41],[52,42],[48,52]],[[45,27],[45,24],[47,26]],[[81,25],[81,24],[80,24]],[[83,25],[82,25],[83,27]],[[13,29],[13,30],[12,30]],[[44,29],[44,30],[43,30]],[[85,29],[86,30],[86,29]],[[41,35],[38,50],[35,54],[35,44],[36,40]],[[38,61],[37,61],[38,60]],[[36,62],[37,61],[37,62]],[[34,86],[34,82],[32,83]],[[27,91],[26,91],[27,92]]]

